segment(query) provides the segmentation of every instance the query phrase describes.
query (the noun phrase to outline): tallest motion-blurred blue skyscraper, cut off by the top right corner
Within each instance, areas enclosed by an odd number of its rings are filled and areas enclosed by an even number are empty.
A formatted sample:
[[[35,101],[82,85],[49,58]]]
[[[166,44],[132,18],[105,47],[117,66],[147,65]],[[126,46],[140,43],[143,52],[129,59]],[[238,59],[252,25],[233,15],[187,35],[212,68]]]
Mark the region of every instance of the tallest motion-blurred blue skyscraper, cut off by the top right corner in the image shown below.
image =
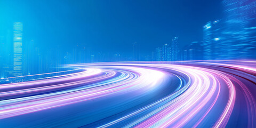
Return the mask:
[[[225,28],[223,44],[230,58],[250,58],[249,51],[255,48],[256,2],[252,0],[223,0]]]

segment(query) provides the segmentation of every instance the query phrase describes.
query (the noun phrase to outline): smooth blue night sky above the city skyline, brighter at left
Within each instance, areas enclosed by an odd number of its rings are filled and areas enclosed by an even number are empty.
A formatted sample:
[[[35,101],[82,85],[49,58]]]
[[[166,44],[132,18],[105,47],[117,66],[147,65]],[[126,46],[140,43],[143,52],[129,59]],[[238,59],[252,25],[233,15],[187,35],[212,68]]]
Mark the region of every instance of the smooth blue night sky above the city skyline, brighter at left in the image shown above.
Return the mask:
[[[43,49],[70,51],[86,43],[93,52],[142,54],[179,37],[183,47],[202,41],[207,21],[222,17],[220,0],[173,1],[0,1],[0,34],[23,22],[24,39]]]

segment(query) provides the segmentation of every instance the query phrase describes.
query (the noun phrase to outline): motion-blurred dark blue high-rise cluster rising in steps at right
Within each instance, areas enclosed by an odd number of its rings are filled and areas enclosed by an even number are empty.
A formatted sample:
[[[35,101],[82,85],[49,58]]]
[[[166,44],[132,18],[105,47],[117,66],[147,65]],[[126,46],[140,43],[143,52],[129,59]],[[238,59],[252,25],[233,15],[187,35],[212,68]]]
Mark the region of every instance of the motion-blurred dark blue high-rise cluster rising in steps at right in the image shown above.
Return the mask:
[[[256,58],[256,1],[224,0],[225,18],[203,26],[203,41],[183,49],[184,60]]]

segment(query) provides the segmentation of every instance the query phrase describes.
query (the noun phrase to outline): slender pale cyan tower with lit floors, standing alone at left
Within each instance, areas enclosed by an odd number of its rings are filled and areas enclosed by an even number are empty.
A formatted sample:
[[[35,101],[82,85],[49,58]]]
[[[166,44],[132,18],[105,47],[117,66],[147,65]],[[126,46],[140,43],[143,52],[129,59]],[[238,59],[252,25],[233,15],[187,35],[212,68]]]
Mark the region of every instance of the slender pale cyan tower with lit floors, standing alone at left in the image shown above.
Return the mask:
[[[22,22],[13,24],[13,75],[22,75]]]

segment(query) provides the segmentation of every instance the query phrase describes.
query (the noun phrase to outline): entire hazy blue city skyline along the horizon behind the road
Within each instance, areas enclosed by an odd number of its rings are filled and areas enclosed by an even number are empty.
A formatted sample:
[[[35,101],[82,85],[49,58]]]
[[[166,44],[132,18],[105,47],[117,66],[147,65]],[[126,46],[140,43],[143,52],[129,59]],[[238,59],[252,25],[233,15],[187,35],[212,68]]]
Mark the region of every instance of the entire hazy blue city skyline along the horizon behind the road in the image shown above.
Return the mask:
[[[61,71],[57,67],[66,63],[256,59],[256,1],[223,0],[222,4],[224,18],[203,26],[202,41],[181,48],[174,37],[146,55],[137,42],[132,44],[131,55],[95,53],[83,43],[63,53],[56,51],[61,47],[42,51],[36,41],[23,38],[23,23],[14,22],[13,29],[0,35],[0,77]]]

